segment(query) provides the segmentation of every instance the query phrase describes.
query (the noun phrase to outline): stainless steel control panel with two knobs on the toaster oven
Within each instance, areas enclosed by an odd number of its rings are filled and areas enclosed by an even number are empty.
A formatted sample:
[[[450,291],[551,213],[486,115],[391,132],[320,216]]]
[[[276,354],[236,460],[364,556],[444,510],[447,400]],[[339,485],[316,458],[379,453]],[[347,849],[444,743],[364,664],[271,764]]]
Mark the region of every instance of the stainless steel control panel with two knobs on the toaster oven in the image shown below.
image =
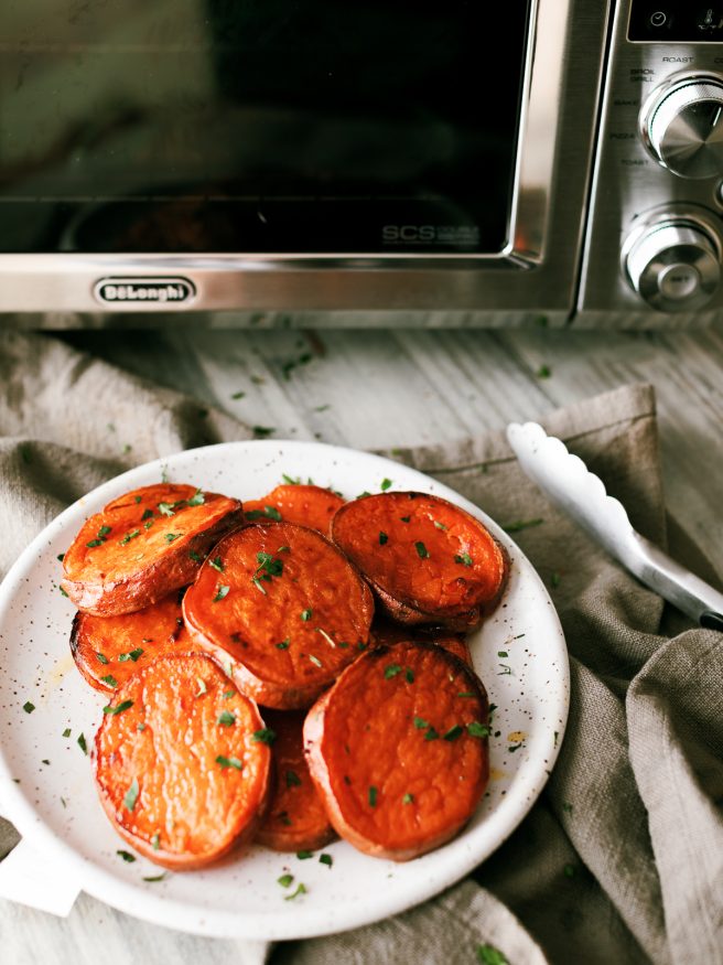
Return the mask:
[[[722,265],[723,0],[623,0],[578,323],[708,321],[723,310]]]

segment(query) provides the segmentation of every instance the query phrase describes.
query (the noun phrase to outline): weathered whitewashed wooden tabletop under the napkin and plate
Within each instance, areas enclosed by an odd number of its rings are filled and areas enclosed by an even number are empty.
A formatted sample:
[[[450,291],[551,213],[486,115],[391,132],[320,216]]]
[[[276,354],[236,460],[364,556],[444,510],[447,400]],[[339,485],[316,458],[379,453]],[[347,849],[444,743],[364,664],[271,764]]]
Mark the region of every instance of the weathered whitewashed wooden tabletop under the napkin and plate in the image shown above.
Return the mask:
[[[667,504],[723,573],[723,329],[600,334],[166,329],[64,337],[251,426],[273,428],[274,438],[356,448],[501,429],[627,383],[652,383]],[[66,920],[0,901],[0,936],[9,965],[244,962],[241,943],[148,925],[87,896]]]

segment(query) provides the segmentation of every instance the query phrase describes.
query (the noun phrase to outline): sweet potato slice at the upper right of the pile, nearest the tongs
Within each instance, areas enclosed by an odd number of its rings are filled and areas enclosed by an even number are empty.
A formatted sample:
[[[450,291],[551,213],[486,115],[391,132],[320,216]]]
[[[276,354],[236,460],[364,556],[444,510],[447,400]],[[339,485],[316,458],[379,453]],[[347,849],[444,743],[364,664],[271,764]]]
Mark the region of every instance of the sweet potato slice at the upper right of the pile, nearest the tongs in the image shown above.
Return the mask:
[[[485,526],[446,500],[381,493],[346,503],[332,538],[399,623],[470,630],[494,609],[508,561]]]

